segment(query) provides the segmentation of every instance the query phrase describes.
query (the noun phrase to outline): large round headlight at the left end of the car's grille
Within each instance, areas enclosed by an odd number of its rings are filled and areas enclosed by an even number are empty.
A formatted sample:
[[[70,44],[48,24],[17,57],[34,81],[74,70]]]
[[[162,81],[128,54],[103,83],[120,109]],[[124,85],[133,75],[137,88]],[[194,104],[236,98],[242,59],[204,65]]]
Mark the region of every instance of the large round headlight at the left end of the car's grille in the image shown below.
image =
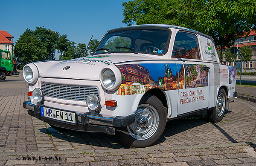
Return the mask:
[[[38,80],[38,69],[33,63],[29,63],[23,67],[23,77],[27,83],[33,84]]]

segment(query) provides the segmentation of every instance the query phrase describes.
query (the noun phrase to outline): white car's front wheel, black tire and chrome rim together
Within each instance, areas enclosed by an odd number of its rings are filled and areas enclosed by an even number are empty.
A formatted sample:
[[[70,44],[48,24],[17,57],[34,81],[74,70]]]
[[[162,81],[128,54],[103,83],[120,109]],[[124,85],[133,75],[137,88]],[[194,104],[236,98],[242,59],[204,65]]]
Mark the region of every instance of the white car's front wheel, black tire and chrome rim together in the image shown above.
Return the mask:
[[[128,147],[151,146],[163,134],[166,114],[163,103],[151,94],[145,94],[135,112],[135,122],[117,130],[117,134]]]

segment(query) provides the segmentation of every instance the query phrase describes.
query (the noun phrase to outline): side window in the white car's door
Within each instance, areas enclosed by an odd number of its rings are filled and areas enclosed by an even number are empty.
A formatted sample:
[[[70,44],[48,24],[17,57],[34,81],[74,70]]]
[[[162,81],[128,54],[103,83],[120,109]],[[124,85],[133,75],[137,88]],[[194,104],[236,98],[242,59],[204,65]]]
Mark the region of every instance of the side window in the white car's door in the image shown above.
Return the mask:
[[[196,35],[178,32],[175,37],[172,57],[200,60],[201,57]]]

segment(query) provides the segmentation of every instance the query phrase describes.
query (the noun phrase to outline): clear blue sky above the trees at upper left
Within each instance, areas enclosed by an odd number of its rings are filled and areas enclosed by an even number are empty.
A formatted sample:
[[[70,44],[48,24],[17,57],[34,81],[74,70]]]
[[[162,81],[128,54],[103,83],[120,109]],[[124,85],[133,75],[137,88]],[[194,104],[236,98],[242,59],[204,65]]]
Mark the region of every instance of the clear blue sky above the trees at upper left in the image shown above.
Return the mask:
[[[108,30],[126,26],[124,1],[129,0],[6,0],[1,3],[0,30],[14,36],[15,43],[26,29],[44,26],[87,46],[92,35],[101,40]]]

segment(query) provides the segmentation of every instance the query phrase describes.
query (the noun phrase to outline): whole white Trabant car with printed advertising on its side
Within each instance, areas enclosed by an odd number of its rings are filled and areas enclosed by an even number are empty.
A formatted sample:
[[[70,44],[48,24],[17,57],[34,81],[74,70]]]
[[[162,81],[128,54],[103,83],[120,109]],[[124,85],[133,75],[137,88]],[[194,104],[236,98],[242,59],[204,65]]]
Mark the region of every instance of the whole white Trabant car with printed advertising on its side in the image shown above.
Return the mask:
[[[192,113],[219,122],[236,97],[236,69],[212,37],[171,25],[110,30],[92,56],[29,63],[23,77],[30,115],[58,131],[117,133],[128,147],[151,146],[167,120]]]

